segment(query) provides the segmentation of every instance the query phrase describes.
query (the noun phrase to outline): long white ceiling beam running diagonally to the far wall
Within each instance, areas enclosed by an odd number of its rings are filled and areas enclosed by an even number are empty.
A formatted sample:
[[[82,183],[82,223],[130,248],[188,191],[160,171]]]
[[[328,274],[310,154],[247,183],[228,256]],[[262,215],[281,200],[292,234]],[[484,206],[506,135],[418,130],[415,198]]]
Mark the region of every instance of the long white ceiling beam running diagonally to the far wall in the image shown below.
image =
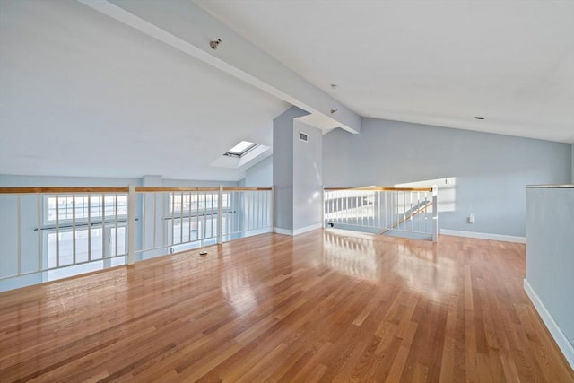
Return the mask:
[[[308,111],[317,127],[361,133],[359,115],[189,0],[77,1]],[[216,39],[222,42],[213,49]]]

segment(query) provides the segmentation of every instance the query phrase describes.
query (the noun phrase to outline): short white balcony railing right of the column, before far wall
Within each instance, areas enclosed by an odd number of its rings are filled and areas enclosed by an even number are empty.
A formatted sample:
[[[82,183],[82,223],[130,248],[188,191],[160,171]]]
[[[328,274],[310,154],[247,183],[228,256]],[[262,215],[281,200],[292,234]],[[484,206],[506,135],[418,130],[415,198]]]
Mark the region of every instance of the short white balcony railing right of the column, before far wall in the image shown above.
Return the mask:
[[[438,187],[326,187],[325,224],[437,242],[437,196]]]

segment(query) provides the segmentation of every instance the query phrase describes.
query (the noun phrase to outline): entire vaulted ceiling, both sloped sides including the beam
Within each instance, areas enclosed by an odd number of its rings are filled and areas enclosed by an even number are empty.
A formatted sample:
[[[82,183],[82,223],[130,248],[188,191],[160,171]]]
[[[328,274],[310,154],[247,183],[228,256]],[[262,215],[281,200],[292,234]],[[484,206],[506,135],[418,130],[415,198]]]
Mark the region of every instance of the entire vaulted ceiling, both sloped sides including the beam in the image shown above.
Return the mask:
[[[238,180],[291,105],[574,143],[574,2],[0,1],[0,173]]]

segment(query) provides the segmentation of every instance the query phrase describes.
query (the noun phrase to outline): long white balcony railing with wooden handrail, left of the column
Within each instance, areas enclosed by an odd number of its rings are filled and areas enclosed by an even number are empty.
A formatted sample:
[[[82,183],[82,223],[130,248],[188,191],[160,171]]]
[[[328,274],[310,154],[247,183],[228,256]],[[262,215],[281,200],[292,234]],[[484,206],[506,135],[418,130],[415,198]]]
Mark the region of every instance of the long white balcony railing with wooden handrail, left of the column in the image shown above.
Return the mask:
[[[0,291],[272,231],[271,187],[0,187]]]

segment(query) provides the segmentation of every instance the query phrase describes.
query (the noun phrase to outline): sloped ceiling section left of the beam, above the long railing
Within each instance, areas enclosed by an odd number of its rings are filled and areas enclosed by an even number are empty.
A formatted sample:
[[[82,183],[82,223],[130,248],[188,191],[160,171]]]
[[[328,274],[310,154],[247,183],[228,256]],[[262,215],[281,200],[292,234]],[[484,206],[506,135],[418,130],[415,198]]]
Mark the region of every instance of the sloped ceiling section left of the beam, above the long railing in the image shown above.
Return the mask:
[[[0,1],[0,174],[239,180],[289,104],[74,1]]]

